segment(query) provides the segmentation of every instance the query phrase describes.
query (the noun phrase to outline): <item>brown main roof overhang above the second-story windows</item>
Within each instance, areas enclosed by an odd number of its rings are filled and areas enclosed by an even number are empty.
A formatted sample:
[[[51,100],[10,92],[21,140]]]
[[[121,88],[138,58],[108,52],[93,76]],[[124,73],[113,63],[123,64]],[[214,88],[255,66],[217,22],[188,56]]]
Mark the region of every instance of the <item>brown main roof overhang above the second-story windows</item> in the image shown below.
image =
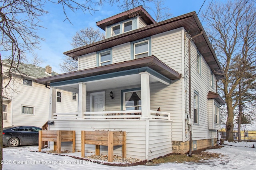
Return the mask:
[[[101,51],[103,49],[108,49],[116,45],[123,43],[128,43],[136,41],[138,39],[143,39],[156,35],[158,33],[163,33],[170,31],[172,29],[184,27],[184,29],[194,37],[194,43],[198,48],[198,51],[204,57],[206,63],[210,66],[212,72],[215,74],[217,80],[224,78],[222,67],[218,62],[214,49],[196,15],[196,12],[190,12],[182,16],[174,17],[169,20],[161,21],[145,27],[129,31],[127,33],[122,33],[120,35],[92,43],[77,49],[66,51],[63,54],[73,59],[77,59],[78,56],[86,55],[92,52]],[[202,31],[202,33],[200,33]]]

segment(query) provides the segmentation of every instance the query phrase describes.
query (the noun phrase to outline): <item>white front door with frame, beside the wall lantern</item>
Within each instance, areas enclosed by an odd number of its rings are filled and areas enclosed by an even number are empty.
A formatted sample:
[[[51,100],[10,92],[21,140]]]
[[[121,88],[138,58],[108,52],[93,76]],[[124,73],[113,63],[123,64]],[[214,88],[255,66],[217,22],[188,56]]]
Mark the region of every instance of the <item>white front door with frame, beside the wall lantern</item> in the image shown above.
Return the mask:
[[[90,94],[91,111],[105,110],[105,92],[96,92]]]

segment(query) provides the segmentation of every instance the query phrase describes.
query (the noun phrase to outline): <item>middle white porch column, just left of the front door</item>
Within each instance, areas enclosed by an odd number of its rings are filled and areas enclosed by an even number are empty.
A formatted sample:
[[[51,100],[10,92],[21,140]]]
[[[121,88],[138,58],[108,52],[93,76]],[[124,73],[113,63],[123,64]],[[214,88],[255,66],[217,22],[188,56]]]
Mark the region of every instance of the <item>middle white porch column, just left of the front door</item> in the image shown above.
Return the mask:
[[[83,118],[86,111],[86,84],[79,82],[78,85],[78,118]]]

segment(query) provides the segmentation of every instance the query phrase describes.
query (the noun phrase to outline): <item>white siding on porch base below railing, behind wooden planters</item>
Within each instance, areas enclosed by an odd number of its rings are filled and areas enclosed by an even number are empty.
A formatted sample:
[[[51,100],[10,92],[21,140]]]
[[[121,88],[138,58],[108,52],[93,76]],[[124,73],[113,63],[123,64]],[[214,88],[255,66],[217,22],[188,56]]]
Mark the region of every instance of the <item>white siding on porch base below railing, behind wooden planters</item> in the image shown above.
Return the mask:
[[[150,127],[146,130],[147,127]],[[136,128],[134,128],[136,127]],[[172,152],[172,122],[156,120],[126,119],[98,121],[54,121],[51,130],[75,130],[76,150],[81,150],[81,131],[126,131],[126,156],[148,159],[164,156]],[[148,141],[146,141],[148,140]],[[146,150],[148,145],[148,150]],[[51,149],[53,145],[50,145]],[[63,150],[72,150],[72,143],[63,143]],[[149,150],[152,151],[149,152]],[[85,145],[86,152],[95,152],[95,145]],[[101,154],[108,154],[107,146],[100,146]],[[114,146],[114,155],[122,155],[122,147]]]

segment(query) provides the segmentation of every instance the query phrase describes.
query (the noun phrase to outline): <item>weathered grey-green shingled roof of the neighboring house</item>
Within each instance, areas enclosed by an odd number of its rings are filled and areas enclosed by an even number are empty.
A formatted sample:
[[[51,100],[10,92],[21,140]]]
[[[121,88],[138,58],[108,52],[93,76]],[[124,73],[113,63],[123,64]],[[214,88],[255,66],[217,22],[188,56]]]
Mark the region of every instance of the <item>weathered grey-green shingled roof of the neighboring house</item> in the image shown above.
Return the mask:
[[[10,61],[8,59],[2,60],[2,64],[10,68]],[[3,70],[3,73],[8,72],[8,70]],[[35,66],[33,64],[20,63],[19,71],[22,72],[23,76],[26,76],[32,79],[50,76],[49,74],[47,74],[45,68]],[[19,74],[19,73],[15,72],[15,74]],[[57,74],[58,73],[52,71],[52,76]]]

